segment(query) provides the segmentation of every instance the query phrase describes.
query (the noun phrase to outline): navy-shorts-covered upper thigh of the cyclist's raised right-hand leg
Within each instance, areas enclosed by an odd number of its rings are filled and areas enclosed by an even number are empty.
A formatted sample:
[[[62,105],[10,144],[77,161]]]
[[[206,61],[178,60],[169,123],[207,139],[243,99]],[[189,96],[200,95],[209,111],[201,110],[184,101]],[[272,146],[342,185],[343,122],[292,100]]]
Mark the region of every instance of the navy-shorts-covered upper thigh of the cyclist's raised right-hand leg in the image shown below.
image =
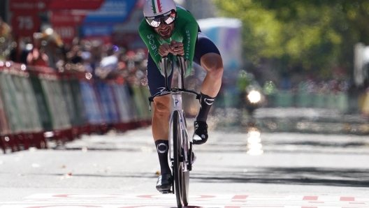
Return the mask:
[[[198,32],[196,45],[195,45],[195,54],[194,54],[194,62],[198,65],[201,65],[201,57],[208,53],[216,53],[220,55],[220,52],[217,46],[205,36],[202,32]]]

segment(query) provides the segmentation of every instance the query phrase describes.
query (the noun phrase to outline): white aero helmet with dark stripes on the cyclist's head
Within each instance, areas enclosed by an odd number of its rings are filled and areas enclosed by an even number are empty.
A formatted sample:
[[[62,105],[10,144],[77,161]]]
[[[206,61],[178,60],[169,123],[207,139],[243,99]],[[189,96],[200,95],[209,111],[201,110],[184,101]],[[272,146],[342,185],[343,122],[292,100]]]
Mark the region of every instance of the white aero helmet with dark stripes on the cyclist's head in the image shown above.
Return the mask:
[[[146,0],[143,5],[143,15],[145,17],[163,15],[171,10],[177,11],[173,0]]]

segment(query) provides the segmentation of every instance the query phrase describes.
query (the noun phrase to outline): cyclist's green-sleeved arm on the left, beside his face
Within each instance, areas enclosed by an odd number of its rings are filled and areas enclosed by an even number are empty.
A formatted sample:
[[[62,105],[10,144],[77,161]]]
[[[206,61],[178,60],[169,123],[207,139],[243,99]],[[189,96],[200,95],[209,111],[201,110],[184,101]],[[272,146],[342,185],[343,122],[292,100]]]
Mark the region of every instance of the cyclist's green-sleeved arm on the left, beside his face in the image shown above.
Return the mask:
[[[161,56],[159,54],[159,37],[157,36],[156,32],[150,28],[150,26],[146,25],[146,22],[144,21],[145,20],[141,22],[138,33],[140,34],[140,37],[149,50],[150,56],[155,61],[155,64],[157,64],[158,66],[158,63],[161,59]]]

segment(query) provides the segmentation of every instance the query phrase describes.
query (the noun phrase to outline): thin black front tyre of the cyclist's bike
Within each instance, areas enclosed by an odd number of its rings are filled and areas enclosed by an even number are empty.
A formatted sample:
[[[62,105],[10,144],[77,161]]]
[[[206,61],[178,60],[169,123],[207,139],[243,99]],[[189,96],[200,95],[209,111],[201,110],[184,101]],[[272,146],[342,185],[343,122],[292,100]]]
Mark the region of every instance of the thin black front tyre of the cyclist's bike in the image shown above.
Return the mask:
[[[177,199],[177,207],[182,208],[182,165],[180,158],[182,156],[182,148],[180,142],[180,120],[178,111],[173,112],[173,176],[175,198]]]

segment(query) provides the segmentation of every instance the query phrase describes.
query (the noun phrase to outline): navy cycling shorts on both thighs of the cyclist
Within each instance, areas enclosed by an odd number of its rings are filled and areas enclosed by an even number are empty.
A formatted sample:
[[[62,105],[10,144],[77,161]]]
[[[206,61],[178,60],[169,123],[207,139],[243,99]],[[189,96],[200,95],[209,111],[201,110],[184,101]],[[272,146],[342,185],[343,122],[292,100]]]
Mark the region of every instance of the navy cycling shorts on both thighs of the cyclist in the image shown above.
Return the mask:
[[[201,57],[208,53],[216,53],[220,55],[217,46],[212,43],[212,40],[210,40],[208,36],[205,36],[205,34],[198,32],[195,44],[194,62],[198,65],[201,65]],[[168,77],[169,87],[171,87],[172,77],[173,71]],[[147,58],[147,82],[150,94],[152,96],[154,94],[157,94],[159,91],[163,91],[165,89],[164,76],[161,75],[159,68],[157,68],[157,64],[155,64],[155,61],[152,59],[150,54]]]

